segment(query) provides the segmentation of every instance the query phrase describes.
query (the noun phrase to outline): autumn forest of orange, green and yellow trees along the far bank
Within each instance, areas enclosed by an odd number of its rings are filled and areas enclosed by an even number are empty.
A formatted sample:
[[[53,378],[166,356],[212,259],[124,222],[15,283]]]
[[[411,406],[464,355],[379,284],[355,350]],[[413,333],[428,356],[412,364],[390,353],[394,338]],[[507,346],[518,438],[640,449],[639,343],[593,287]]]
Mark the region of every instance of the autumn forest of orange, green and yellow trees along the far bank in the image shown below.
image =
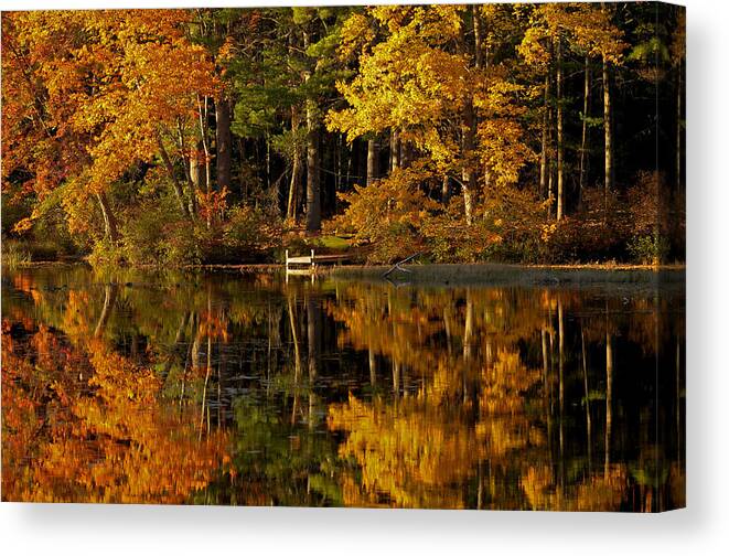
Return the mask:
[[[685,260],[685,9],[2,14],[3,263]]]

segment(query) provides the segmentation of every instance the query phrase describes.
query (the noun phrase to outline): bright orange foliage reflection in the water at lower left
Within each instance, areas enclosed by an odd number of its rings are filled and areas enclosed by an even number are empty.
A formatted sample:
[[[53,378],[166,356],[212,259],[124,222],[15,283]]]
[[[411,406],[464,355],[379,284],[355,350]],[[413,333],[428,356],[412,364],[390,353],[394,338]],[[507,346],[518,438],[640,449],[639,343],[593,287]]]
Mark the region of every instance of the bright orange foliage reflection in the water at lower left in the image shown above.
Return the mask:
[[[179,504],[229,461],[225,432],[200,439],[195,410],[103,341],[60,349],[42,327],[32,342],[35,365],[3,334],[3,500]]]

